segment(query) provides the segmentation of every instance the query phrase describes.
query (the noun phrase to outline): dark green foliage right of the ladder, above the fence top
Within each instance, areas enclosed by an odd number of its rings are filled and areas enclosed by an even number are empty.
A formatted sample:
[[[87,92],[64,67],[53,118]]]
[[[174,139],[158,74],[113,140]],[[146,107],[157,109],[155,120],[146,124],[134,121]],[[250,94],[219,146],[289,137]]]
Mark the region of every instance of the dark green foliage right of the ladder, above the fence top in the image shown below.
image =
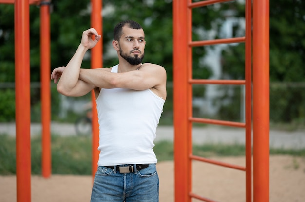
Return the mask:
[[[270,1],[270,80],[305,81],[305,1]]]

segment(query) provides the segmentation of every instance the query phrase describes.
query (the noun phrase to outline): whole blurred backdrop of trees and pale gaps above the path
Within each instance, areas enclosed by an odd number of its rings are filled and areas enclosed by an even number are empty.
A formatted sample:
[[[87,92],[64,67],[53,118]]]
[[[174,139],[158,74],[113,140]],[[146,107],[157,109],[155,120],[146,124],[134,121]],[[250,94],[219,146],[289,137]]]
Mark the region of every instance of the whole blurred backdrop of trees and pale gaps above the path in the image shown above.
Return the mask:
[[[196,0],[194,0],[196,1]],[[90,0],[52,0],[51,70],[65,66],[90,28]],[[193,10],[193,40],[245,35],[244,0]],[[31,121],[41,119],[39,7],[30,6]],[[160,125],[172,125],[172,0],[103,0],[103,67],[118,63],[111,42],[121,20],[139,22],[146,34],[144,62],[167,70],[168,97]],[[14,5],[0,4],[0,122],[15,121]],[[244,43],[193,48],[193,77],[244,79]],[[270,0],[270,126],[283,130],[305,128],[305,2]],[[90,51],[82,68],[90,68]],[[88,110],[91,94],[65,97],[51,87],[54,122],[75,123]],[[193,86],[194,117],[244,121],[243,86]]]

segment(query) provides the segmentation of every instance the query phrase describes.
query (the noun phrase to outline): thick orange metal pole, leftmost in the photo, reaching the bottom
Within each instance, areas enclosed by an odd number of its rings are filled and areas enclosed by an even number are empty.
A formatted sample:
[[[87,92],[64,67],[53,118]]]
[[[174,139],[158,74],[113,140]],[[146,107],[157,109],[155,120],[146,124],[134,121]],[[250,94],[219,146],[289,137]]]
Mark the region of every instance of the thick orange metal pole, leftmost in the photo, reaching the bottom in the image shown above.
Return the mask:
[[[31,201],[29,0],[15,1],[17,202]]]

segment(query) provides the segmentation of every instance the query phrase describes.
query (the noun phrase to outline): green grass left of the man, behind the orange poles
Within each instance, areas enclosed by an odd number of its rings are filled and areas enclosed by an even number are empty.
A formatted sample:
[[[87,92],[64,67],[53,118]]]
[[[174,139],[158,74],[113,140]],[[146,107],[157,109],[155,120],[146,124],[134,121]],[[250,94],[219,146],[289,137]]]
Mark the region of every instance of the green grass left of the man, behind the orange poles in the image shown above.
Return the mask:
[[[0,174],[16,174],[15,138],[0,135]],[[52,135],[52,173],[91,174],[91,138]],[[31,139],[32,174],[41,174],[41,137]]]

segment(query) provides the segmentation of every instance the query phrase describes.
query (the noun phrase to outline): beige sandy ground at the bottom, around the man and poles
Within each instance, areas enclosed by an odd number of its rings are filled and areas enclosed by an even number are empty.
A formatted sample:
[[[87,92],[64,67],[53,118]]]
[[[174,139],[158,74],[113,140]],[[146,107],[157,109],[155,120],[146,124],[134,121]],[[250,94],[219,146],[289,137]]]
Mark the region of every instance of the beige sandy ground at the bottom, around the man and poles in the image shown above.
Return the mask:
[[[244,157],[215,160],[245,165]],[[174,201],[174,164],[159,162],[160,202]],[[32,176],[32,202],[89,202],[91,176]],[[193,162],[193,192],[220,202],[245,202],[245,172]],[[16,201],[16,176],[0,176],[0,202]],[[193,200],[198,202],[198,200]],[[305,202],[305,158],[270,156],[270,202]]]

